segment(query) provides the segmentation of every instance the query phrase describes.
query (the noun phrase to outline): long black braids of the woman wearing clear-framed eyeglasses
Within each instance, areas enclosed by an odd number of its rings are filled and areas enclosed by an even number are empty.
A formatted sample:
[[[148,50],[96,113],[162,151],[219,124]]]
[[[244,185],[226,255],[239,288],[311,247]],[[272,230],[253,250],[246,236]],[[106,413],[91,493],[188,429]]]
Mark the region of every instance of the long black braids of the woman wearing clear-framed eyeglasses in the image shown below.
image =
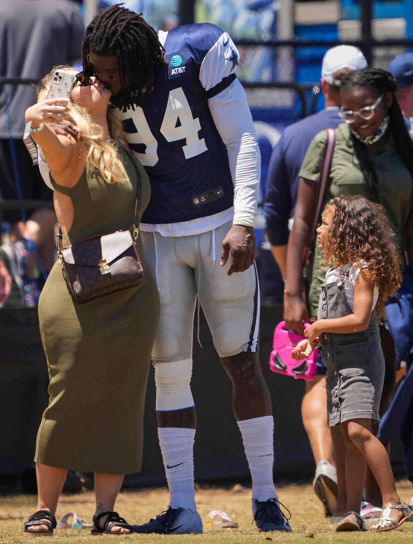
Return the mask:
[[[367,66],[363,70],[349,72],[341,78],[340,91],[343,92],[350,87],[371,87],[378,96],[389,91],[393,93],[393,102],[388,109],[390,129],[393,133],[394,141],[396,141],[400,158],[413,178],[413,141],[406,128],[402,110],[394,95],[394,92],[397,90],[396,79],[394,79],[391,73],[386,70]],[[365,144],[361,143],[361,141],[357,140],[353,134],[351,134],[351,139],[355,155],[359,160],[360,168],[369,191],[369,199],[373,202],[379,202],[380,195],[377,175],[367,152],[367,147]]]

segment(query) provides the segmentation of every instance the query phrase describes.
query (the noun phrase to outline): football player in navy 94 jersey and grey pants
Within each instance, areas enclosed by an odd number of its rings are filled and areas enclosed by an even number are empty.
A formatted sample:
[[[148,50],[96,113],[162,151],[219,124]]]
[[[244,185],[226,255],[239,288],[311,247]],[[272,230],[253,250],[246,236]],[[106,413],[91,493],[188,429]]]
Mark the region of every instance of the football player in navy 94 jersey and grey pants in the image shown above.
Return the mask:
[[[232,381],[257,527],[291,531],[273,484],[274,422],[258,360],[254,221],[260,152],[235,75],[238,60],[230,36],[212,24],[157,36],[140,15],[119,5],[94,18],[83,44],[85,73],[112,91],[152,189],[140,229],[161,296],[152,357],[170,502],[155,520],[134,526],[137,533],[202,533],[189,385],[197,298]]]

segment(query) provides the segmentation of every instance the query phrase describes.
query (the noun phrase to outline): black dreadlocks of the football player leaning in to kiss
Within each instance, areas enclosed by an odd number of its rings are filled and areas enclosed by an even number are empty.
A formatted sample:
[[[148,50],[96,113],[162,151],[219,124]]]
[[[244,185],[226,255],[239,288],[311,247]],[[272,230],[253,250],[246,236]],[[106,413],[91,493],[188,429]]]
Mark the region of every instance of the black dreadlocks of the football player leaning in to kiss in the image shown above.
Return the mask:
[[[119,60],[121,100],[124,112],[134,110],[134,104],[149,95],[159,66],[167,67],[165,50],[155,30],[123,4],[114,4],[100,11],[86,29],[82,46],[85,70],[90,65],[91,52],[103,57],[116,55]]]

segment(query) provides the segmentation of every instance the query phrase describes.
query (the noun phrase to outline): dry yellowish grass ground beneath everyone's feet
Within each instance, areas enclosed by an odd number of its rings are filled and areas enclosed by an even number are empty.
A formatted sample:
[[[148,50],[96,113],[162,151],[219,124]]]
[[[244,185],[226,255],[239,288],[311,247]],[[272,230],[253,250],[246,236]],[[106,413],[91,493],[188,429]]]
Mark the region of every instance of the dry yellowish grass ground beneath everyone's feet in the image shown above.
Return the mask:
[[[239,488],[239,486],[238,486]],[[413,486],[408,481],[398,483],[398,491],[401,498],[409,503],[413,493]],[[309,539],[314,544],[336,542],[348,544],[350,542],[383,542],[408,543],[413,541],[413,523],[405,523],[400,529],[387,533],[335,533],[328,519],[323,517],[322,506],[315,496],[311,485],[288,485],[279,487],[280,500],[291,511],[292,534],[285,533],[258,533],[255,523],[251,525],[251,500],[250,490],[238,489],[238,491],[226,491],[220,488],[201,489],[196,499],[202,521],[207,520],[211,510],[223,510],[229,514],[233,521],[239,524],[238,529],[205,529],[203,535],[130,535],[130,536],[101,536],[104,539],[115,539],[116,542],[128,541],[146,542],[151,544],[165,544],[164,539],[171,539],[172,544],[267,544],[270,541],[289,542],[291,544],[309,544]],[[150,517],[160,514],[168,501],[168,493],[165,489],[148,490],[140,492],[122,492],[116,503],[116,510],[130,523],[144,523]],[[8,496],[0,498],[0,544],[8,543],[32,543],[39,542],[48,537],[33,537],[23,534],[23,521],[36,510],[34,496]],[[67,511],[75,511],[85,521],[91,522],[94,512],[94,496],[91,492],[78,495],[66,495],[61,498],[58,506],[57,517]],[[50,542],[69,542],[70,544],[96,543],[96,537],[90,535],[89,530],[58,530],[55,529]]]

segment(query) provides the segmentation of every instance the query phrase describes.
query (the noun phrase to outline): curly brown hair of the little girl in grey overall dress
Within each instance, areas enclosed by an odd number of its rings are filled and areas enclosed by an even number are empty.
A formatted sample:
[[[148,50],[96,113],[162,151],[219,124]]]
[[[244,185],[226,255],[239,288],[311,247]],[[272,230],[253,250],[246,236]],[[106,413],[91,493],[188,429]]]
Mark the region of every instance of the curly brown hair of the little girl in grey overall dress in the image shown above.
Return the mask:
[[[323,257],[339,268],[348,263],[362,266],[365,261],[372,281],[379,289],[375,307],[377,319],[385,314],[384,305],[400,287],[400,252],[383,207],[363,196],[338,196]]]

